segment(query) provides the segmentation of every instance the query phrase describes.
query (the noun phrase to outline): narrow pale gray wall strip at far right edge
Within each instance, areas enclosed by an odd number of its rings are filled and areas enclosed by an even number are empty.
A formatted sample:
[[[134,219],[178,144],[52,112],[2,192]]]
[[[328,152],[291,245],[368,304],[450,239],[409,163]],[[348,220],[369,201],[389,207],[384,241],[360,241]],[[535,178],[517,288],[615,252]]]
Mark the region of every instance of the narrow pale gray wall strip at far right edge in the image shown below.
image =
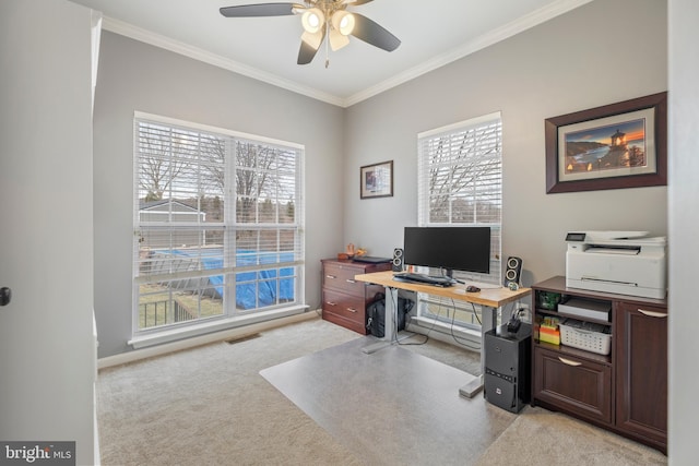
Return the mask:
[[[699,2],[670,0],[670,445],[672,465],[697,463],[699,258]]]

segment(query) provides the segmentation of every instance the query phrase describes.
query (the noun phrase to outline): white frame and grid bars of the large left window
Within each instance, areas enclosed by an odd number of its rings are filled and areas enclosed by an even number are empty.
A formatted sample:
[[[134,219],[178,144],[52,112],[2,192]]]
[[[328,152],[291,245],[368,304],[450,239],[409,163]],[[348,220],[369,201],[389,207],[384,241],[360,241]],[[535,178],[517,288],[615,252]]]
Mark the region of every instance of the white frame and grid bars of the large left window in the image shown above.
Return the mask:
[[[204,135],[213,135],[216,139],[225,140],[225,162],[223,163],[223,172],[224,172],[224,187],[222,190],[223,195],[223,205],[224,205],[224,214],[223,218],[220,222],[205,223],[205,213],[198,213],[192,215],[191,212],[180,213],[177,219],[175,220],[175,214],[171,207],[171,204],[175,203],[175,200],[169,202],[169,210],[173,211],[171,222],[164,224],[163,222],[158,222],[162,217],[161,214],[153,214],[151,216],[151,220],[153,222],[144,222],[141,219],[141,201],[143,200],[143,192],[140,189],[139,183],[139,126],[141,123],[152,123],[158,124],[163,127],[168,127],[173,129],[177,129],[180,131],[187,131],[192,133],[201,133]],[[134,162],[133,162],[133,176],[134,176],[134,207],[133,207],[133,225],[134,225],[134,235],[133,235],[133,326],[132,334],[133,338],[129,342],[134,347],[149,346],[152,344],[159,344],[169,340],[179,339],[182,337],[193,336],[202,333],[208,333],[216,330],[224,330],[239,325],[246,325],[250,323],[257,323],[261,321],[266,321],[271,319],[276,319],[284,315],[292,315],[295,313],[303,312],[306,308],[304,304],[304,275],[305,275],[305,199],[304,199],[304,146],[296,143],[291,143],[286,141],[273,140],[270,138],[253,135],[241,133],[237,131],[232,131],[222,128],[215,128],[199,123],[192,123],[188,121],[182,121],[178,119],[173,119],[168,117],[145,113],[145,112],[134,112]],[[261,207],[259,206],[260,202],[264,199],[268,199],[265,194],[258,193],[257,196],[253,193],[253,199],[257,203],[257,206],[253,207],[256,217],[253,219],[241,219],[236,217],[236,204],[241,199],[238,189],[236,188],[236,170],[246,169],[247,171],[253,171],[258,174],[258,171],[262,171],[262,169],[250,167],[240,167],[236,164],[235,157],[235,147],[238,144],[251,144],[257,147],[270,150],[271,152],[281,154],[280,157],[284,156],[287,159],[294,160],[294,170],[289,176],[288,171],[269,171],[272,175],[277,177],[285,176],[286,180],[292,186],[294,190],[293,193],[293,218],[292,223],[282,223],[280,220],[281,216],[279,215],[279,210],[281,208],[281,203],[277,202],[275,205],[276,208],[276,220],[270,220],[269,215],[266,218],[262,218],[262,215],[259,213]],[[276,151],[276,152],[275,152]],[[291,154],[291,155],[289,155]],[[257,158],[256,158],[257,159]],[[259,176],[259,175],[256,175]],[[191,177],[191,175],[190,175]],[[194,176],[197,177],[197,176]],[[279,178],[277,178],[279,180]],[[171,198],[170,198],[171,199]],[[279,200],[277,200],[279,201]],[[185,222],[185,219],[197,219],[194,222]],[[205,238],[206,231],[218,230],[220,235],[223,236],[222,240],[222,258],[218,267],[213,271],[205,271],[204,267],[200,264],[197,270],[189,270],[187,273],[170,271],[159,274],[151,274],[150,272],[144,273],[142,271],[142,263],[140,258],[140,241],[142,240],[141,234],[143,229],[147,228],[159,228],[166,231],[170,228],[170,231],[179,232],[182,231],[199,231],[199,250],[206,247]],[[253,243],[250,243],[250,239],[248,239],[247,244],[252,244],[252,248],[257,250],[257,254],[252,253],[250,255],[250,260],[253,261],[251,265],[236,265],[238,260],[236,258],[239,256],[238,251],[236,250],[236,231],[246,230],[247,232],[254,234],[257,232],[257,243],[254,243],[254,239],[252,239]],[[152,230],[149,230],[152,231]],[[271,236],[270,236],[271,235]],[[284,246],[280,244],[280,238],[286,235],[282,241],[286,241]],[[293,246],[291,248],[293,251],[288,251],[289,240],[288,236],[293,237]],[[266,252],[265,249],[262,249],[262,244],[266,244],[270,241],[269,238],[276,238],[276,243],[273,246],[272,253]],[[196,251],[197,247],[193,248]],[[274,252],[276,251],[276,252]],[[263,258],[264,256],[264,258]],[[266,258],[272,258],[271,262],[268,262]],[[264,276],[264,271],[266,272],[266,277]],[[293,299],[287,300],[285,302],[281,302],[281,299],[277,299],[269,304],[269,306],[260,306],[259,295],[258,295],[258,284],[263,282],[270,284],[270,286],[275,286],[279,292],[280,285],[282,282],[282,276],[286,277],[283,274],[283,271],[288,272],[293,271],[292,275],[288,275],[291,279],[287,279],[286,283],[293,282]],[[250,286],[254,287],[256,290],[256,306],[252,309],[237,309],[236,307],[236,277],[242,277],[242,274],[248,275],[248,282]],[[188,321],[188,322],[177,322],[169,323],[166,325],[158,325],[153,327],[142,327],[139,324],[139,289],[142,284],[147,283],[164,283],[168,282],[168,279],[174,280],[190,280],[190,282],[199,282],[202,283],[205,280],[208,283],[208,287],[211,288],[213,285],[206,278],[208,276],[220,276],[224,277],[224,282],[222,286],[217,288],[222,290],[222,301],[223,301],[223,312],[221,315],[202,318],[201,314],[199,318]],[[270,278],[271,275],[271,278]],[[251,278],[250,278],[251,277]],[[239,283],[238,283],[239,285]],[[196,291],[197,285],[192,286],[192,289]],[[201,291],[199,291],[201,292]],[[201,298],[200,298],[201,299]]]

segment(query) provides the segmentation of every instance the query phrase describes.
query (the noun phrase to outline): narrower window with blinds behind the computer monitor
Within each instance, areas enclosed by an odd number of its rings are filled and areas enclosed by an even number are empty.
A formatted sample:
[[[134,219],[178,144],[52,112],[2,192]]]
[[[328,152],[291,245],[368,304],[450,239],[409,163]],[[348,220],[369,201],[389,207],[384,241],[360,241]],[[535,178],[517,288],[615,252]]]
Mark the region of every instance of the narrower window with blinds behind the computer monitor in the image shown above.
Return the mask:
[[[500,283],[502,211],[502,123],[500,113],[462,121],[418,134],[418,225],[490,227],[490,273],[454,276],[485,284]],[[422,297],[422,315],[445,315],[466,326],[479,316],[452,302]]]

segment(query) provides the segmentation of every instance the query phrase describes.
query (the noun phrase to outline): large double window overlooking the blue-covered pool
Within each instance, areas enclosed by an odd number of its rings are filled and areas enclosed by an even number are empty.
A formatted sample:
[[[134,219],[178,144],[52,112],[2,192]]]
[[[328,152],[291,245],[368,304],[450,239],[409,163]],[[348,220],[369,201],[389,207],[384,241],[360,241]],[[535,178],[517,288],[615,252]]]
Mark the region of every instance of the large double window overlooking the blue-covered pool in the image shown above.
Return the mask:
[[[138,113],[134,334],[300,309],[303,147]]]

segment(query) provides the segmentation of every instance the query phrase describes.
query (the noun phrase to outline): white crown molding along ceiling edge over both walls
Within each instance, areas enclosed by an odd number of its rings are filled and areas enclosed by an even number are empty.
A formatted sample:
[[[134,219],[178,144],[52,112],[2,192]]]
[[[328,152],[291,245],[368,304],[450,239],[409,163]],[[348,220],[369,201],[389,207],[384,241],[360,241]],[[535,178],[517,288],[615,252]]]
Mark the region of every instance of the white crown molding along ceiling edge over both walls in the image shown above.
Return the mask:
[[[522,33],[523,31],[545,23],[548,20],[552,20],[558,15],[567,13],[592,1],[594,0],[558,0],[544,8],[533,11],[532,13],[519,17],[506,24],[505,26],[476,37],[474,40],[463,44],[460,47],[448,50],[445,53],[441,53],[424,63],[413,67],[405,72],[396,74],[389,80],[367,87],[366,89],[358,92],[350,97],[340,97],[309,86],[301,85],[291,80],[285,80],[275,74],[268,73],[260,69],[224,58],[198,47],[193,47],[188,44],[171,39],[169,37],[155,34],[153,32],[133,26],[129,23],[125,23],[112,17],[104,16],[103,27],[109,32],[120,34],[126,37],[130,37],[132,39],[140,40],[142,43],[150,44],[155,47],[159,47],[182,55],[185,57],[212,64],[214,67],[223,68],[234,73],[252,77],[254,80],[282,87],[284,89],[292,91],[294,93],[301,94],[317,100],[346,108],[370,97],[374,97],[378,94],[381,94],[388,89],[391,89],[398,85],[401,85],[407,81],[414,80],[415,77],[418,77],[446,64],[449,64],[453,61],[462,59],[471,53],[474,53],[501,40],[505,40],[509,37],[512,37],[519,33]]]

